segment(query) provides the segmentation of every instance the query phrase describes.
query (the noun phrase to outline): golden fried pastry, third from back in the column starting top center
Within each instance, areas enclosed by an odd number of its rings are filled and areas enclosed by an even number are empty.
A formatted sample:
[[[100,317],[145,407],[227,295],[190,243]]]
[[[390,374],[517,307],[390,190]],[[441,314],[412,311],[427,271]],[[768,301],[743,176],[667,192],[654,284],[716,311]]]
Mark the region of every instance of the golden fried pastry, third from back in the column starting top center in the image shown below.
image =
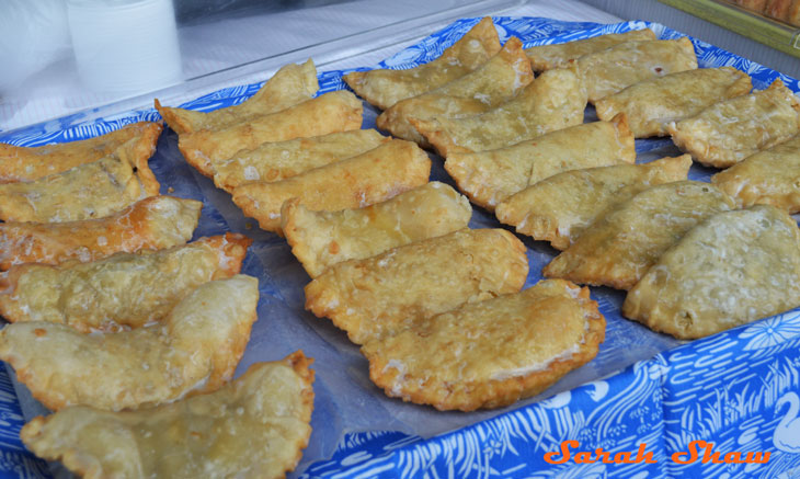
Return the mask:
[[[586,92],[565,69],[541,73],[515,98],[466,118],[409,118],[443,157],[494,150],[583,123]]]

